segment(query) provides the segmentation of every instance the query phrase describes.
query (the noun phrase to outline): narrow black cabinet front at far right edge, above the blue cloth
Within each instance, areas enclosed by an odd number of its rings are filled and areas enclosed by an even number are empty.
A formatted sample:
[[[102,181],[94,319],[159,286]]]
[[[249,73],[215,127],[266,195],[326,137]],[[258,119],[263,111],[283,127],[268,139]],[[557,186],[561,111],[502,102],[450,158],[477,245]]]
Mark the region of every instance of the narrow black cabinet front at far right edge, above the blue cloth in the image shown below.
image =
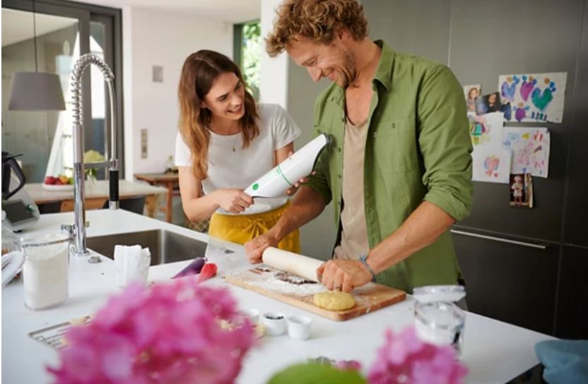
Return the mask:
[[[555,336],[588,339],[588,248],[563,246]]]

